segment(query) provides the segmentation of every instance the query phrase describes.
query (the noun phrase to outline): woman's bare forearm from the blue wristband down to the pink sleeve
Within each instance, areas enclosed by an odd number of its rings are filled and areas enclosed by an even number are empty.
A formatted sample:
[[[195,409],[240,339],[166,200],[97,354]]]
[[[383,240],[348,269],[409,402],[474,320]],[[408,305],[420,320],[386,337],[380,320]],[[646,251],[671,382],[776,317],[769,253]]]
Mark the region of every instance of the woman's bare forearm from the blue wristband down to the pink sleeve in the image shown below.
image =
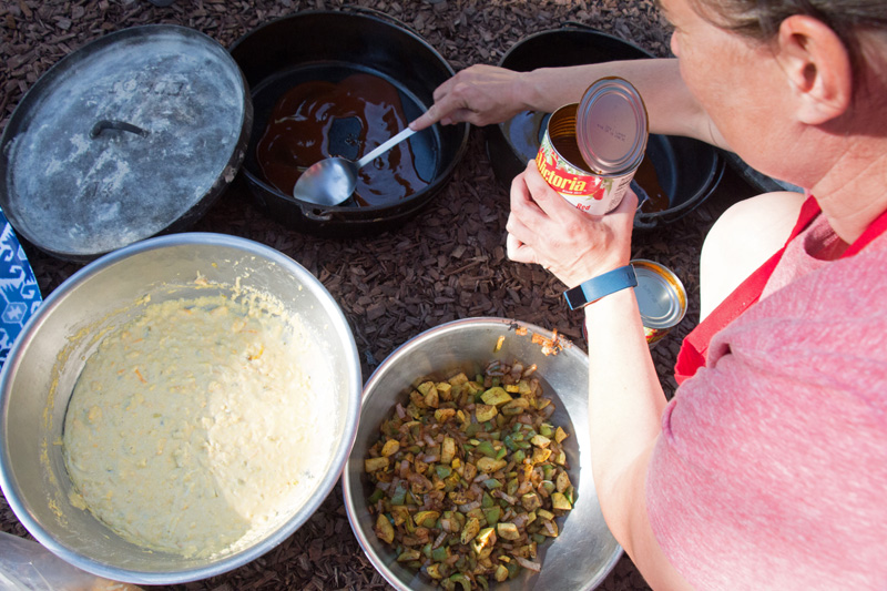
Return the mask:
[[[691,589],[660,548],[646,512],[646,475],[661,436],[665,396],[634,291],[587,306],[585,328],[591,461],[601,512],[653,589]]]

